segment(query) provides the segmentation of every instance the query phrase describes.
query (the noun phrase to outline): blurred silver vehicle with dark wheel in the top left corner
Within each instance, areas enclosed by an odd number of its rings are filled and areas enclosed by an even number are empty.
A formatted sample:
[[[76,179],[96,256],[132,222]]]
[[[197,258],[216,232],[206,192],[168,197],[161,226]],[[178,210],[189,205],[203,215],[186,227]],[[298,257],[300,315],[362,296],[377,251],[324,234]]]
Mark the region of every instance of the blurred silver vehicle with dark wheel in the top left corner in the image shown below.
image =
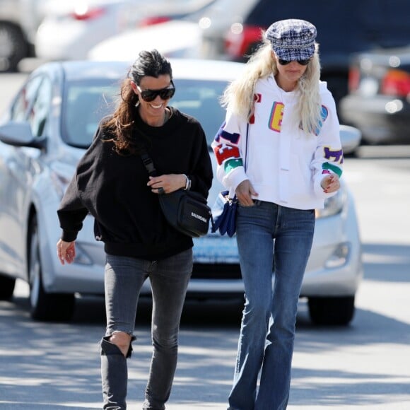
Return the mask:
[[[25,57],[34,57],[34,35],[46,0],[0,0],[0,72],[16,71]]]

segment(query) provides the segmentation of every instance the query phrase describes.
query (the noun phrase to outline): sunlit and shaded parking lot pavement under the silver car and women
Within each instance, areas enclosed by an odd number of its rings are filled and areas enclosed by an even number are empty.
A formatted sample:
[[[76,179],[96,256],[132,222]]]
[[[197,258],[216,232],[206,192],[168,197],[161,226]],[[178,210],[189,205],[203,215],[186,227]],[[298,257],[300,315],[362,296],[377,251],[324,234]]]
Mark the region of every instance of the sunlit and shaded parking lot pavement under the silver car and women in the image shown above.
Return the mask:
[[[410,155],[373,148],[346,159],[356,197],[365,279],[348,327],[315,327],[300,301],[288,409],[410,408]],[[388,154],[388,156],[386,156]],[[100,408],[98,340],[102,300],[81,300],[69,324],[33,322],[19,285],[0,303],[0,409]],[[185,307],[180,358],[168,410],[223,410],[238,339],[238,305]],[[137,321],[129,362],[129,409],[141,408],[151,355],[149,305]]]

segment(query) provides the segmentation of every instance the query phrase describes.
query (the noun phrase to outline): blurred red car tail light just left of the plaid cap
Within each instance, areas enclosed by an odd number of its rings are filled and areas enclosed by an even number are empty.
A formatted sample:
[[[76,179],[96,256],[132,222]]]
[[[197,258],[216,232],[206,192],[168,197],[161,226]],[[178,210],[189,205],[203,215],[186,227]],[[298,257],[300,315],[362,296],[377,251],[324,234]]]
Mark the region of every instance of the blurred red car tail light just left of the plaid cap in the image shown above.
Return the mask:
[[[250,54],[252,47],[261,42],[261,28],[254,25],[243,26],[235,23],[225,37],[225,52],[234,59],[242,59]]]

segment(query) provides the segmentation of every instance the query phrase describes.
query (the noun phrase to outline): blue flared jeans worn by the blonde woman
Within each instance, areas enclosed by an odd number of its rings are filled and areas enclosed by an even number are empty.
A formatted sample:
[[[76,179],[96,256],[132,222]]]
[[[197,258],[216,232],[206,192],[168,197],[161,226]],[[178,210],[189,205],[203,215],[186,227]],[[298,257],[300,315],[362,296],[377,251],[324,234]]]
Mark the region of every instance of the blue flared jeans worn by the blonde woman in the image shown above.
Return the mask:
[[[314,210],[266,201],[238,208],[245,307],[230,410],[286,409],[298,299],[314,230]]]

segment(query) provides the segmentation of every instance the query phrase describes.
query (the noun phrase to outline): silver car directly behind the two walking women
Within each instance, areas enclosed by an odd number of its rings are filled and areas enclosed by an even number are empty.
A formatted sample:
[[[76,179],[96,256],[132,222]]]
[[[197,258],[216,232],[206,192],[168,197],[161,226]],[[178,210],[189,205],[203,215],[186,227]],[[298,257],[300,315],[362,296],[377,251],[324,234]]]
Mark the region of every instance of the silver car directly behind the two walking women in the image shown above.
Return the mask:
[[[170,104],[197,117],[211,144],[225,117],[218,103],[243,65],[228,61],[171,60],[177,88]],[[73,264],[62,266],[56,243],[57,207],[100,118],[115,108],[119,81],[129,62],[67,61],[33,71],[0,121],[0,298],[9,299],[17,278],[30,283],[31,315],[68,320],[77,294],[104,292],[105,254],[88,216],[76,242]],[[347,151],[356,129],[343,129]],[[213,154],[210,155],[214,161]],[[215,165],[215,164],[214,164]],[[213,204],[222,189],[214,179]],[[315,238],[302,296],[312,320],[347,324],[363,275],[361,240],[351,192],[343,183],[317,211]],[[144,288],[150,293],[149,284]],[[209,233],[194,240],[194,271],[188,298],[238,298],[243,284],[235,238]]]

